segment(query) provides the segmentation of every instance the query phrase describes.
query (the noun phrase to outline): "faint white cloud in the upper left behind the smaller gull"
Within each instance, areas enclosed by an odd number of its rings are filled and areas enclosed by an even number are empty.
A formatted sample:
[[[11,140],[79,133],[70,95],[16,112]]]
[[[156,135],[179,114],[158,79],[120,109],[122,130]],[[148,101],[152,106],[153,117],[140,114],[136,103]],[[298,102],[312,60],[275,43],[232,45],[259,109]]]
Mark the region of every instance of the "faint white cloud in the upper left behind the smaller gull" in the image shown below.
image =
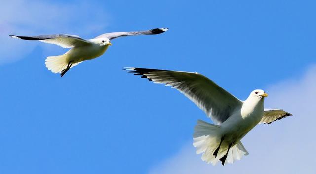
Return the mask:
[[[92,2],[71,4],[69,2],[61,3],[41,0],[1,1],[0,64],[17,61],[40,44],[39,42],[12,39],[8,37],[10,34],[69,33],[97,35],[103,33],[102,31],[107,26],[108,19],[105,9]]]

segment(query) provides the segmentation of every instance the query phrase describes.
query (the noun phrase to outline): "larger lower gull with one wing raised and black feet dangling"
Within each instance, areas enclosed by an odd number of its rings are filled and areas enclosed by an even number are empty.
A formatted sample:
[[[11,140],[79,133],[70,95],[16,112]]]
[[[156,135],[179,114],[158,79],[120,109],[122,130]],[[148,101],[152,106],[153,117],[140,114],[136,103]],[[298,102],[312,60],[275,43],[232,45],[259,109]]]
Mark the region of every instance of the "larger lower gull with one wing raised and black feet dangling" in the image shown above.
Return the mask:
[[[264,98],[268,94],[263,90],[252,91],[242,101],[197,72],[146,68],[124,70],[154,83],[176,88],[216,123],[198,120],[193,134],[197,154],[202,153],[202,160],[213,165],[218,161],[222,165],[233,163],[248,155],[240,140],[256,125],[270,124],[292,115],[282,109],[264,109]]]

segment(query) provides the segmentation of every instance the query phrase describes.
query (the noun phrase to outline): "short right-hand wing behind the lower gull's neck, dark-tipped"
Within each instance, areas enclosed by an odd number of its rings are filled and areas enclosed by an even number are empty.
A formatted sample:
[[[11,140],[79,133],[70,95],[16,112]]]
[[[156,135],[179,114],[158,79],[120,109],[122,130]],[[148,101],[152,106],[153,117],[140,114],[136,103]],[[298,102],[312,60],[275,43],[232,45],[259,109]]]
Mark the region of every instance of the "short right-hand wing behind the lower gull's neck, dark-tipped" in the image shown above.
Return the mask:
[[[291,116],[292,114],[283,111],[282,109],[265,109],[263,112],[263,117],[261,119],[260,123],[272,123],[276,120],[280,120],[284,117]]]

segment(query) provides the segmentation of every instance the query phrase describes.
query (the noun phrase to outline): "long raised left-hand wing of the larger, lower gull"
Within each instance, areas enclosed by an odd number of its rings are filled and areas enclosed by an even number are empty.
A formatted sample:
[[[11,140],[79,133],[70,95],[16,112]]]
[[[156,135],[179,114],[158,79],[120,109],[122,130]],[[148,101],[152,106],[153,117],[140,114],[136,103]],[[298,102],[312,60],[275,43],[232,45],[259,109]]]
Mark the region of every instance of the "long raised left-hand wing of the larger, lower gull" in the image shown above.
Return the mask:
[[[154,81],[154,83],[166,84],[166,86],[176,88],[218,124],[223,123],[243,103],[222,87],[198,73],[145,68],[126,68],[126,70],[132,70],[129,72]]]

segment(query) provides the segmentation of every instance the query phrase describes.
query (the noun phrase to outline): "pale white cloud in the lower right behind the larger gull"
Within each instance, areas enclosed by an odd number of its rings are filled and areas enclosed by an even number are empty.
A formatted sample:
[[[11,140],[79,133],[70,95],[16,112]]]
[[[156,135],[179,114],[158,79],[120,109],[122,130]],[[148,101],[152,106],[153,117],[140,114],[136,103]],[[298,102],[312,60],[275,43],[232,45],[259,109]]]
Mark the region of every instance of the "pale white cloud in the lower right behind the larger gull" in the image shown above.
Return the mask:
[[[150,174],[315,174],[316,66],[299,79],[286,80],[265,90],[267,107],[283,108],[294,116],[261,124],[242,142],[249,151],[234,164],[208,165],[189,142]]]

